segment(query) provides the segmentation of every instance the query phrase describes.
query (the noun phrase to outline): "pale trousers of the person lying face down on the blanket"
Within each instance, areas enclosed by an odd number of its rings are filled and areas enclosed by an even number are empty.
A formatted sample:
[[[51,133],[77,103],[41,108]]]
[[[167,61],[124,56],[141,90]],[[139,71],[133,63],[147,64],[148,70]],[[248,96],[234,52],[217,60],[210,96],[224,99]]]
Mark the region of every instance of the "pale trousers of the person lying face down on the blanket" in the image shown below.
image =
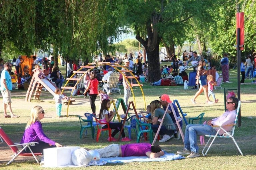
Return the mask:
[[[111,144],[102,149],[94,149],[99,152],[101,158],[118,157],[119,156],[119,145]]]

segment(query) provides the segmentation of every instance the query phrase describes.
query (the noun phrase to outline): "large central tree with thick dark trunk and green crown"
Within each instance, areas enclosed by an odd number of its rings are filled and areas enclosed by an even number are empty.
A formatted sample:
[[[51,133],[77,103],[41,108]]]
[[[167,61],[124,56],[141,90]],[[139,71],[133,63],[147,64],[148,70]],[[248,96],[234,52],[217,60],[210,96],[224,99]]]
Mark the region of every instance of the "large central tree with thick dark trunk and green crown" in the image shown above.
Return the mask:
[[[132,27],[136,39],[146,49],[151,82],[161,78],[159,43],[163,37],[167,37],[168,30],[177,31],[180,25],[185,26],[189,19],[205,15],[205,9],[212,3],[211,0],[127,0],[123,2],[120,11],[124,11],[122,16],[124,22]],[[170,40],[172,43],[175,39]]]

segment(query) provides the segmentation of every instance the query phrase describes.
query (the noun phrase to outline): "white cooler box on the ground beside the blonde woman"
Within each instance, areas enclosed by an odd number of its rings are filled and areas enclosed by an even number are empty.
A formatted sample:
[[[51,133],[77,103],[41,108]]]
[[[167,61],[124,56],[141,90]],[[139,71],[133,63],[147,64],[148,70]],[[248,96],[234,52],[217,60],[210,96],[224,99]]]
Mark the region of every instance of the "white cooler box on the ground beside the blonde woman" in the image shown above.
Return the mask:
[[[73,165],[72,153],[79,148],[79,146],[65,146],[44,149],[44,167]]]

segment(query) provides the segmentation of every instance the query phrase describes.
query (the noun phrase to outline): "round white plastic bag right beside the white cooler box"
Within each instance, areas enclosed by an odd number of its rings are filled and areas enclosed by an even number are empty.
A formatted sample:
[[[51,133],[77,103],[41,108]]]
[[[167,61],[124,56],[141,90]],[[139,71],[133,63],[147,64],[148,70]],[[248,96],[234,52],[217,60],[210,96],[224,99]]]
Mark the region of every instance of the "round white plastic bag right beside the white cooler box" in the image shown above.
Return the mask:
[[[84,148],[76,149],[72,153],[72,162],[74,165],[89,165],[92,155]]]

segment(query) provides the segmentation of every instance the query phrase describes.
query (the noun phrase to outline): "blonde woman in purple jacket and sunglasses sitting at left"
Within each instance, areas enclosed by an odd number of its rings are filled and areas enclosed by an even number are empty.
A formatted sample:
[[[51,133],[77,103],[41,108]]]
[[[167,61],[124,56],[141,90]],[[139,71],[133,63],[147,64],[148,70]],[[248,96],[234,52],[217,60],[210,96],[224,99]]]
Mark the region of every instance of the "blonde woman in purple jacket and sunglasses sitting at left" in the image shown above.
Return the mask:
[[[51,147],[61,147],[62,145],[49,139],[43,131],[41,119],[44,118],[44,110],[41,106],[35,106],[31,110],[31,118],[27,123],[20,143],[38,142],[35,146],[30,146],[34,153],[43,153],[43,150]],[[25,153],[30,153],[26,148]]]

